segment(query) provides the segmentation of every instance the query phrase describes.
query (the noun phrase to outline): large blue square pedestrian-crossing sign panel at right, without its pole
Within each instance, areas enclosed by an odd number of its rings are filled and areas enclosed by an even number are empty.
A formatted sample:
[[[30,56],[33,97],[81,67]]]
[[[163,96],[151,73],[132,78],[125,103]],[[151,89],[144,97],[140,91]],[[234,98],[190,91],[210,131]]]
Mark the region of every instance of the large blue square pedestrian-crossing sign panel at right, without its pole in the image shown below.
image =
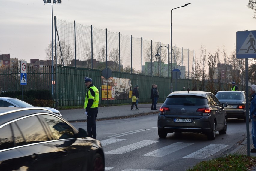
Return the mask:
[[[236,32],[236,58],[256,58],[256,31]]]

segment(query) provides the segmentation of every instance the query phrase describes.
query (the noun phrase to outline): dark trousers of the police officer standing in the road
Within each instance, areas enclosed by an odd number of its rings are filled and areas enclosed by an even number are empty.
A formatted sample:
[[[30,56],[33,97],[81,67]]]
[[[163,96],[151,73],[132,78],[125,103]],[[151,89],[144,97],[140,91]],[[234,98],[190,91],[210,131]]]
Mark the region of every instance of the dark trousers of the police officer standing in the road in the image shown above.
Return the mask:
[[[98,107],[90,108],[90,111],[87,113],[87,132],[88,136],[96,139],[96,118],[98,115]]]

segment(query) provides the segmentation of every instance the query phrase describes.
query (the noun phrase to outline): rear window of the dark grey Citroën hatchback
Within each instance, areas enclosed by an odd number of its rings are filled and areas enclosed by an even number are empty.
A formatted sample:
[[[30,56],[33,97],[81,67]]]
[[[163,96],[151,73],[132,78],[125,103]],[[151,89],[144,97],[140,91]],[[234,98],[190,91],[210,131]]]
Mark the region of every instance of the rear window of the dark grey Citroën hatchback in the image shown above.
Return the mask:
[[[208,100],[201,96],[175,95],[169,96],[164,101],[167,105],[207,105]]]

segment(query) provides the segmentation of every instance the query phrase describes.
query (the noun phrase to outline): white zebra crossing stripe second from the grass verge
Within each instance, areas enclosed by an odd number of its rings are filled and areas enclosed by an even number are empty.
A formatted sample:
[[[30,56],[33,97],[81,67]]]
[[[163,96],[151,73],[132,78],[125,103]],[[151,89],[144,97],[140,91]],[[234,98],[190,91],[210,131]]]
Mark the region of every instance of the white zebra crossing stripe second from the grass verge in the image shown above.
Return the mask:
[[[160,149],[157,149],[157,150],[154,150],[152,152],[149,152],[143,156],[152,156],[152,157],[163,157],[163,156],[166,156],[166,155],[169,155],[173,152],[176,152],[180,149],[183,149],[187,146],[190,146],[194,143],[181,143],[181,142],[177,142],[177,143],[173,143],[169,146],[165,146],[165,147],[162,147]]]

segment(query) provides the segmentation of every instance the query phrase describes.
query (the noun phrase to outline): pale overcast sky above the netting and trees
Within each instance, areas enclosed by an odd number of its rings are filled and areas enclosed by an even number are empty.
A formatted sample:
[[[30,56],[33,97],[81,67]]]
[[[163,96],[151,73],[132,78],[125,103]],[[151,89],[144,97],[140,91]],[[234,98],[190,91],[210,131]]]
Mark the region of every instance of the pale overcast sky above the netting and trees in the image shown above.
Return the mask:
[[[11,58],[44,60],[51,41],[51,5],[43,0],[0,0],[0,53]],[[225,46],[235,50],[236,32],[256,30],[248,0],[62,0],[53,5],[53,16],[82,25],[107,28],[170,46],[195,50],[201,44],[207,56]]]

